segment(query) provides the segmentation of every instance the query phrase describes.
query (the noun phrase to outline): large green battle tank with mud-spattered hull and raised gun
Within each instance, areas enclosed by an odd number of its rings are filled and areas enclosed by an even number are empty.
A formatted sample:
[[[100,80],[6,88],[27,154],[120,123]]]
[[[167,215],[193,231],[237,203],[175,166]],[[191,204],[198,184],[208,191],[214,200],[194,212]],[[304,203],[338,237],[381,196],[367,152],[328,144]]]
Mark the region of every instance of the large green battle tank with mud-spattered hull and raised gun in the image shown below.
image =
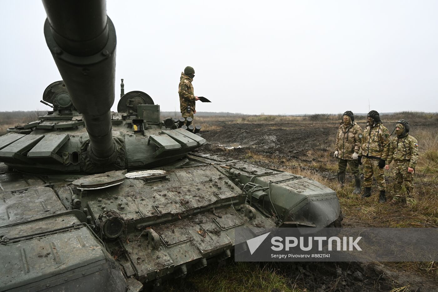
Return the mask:
[[[143,91],[115,96],[105,1],[44,0],[53,110],[0,137],[0,291],[145,291],[230,257],[236,228],[338,225],[336,192],[198,151]]]

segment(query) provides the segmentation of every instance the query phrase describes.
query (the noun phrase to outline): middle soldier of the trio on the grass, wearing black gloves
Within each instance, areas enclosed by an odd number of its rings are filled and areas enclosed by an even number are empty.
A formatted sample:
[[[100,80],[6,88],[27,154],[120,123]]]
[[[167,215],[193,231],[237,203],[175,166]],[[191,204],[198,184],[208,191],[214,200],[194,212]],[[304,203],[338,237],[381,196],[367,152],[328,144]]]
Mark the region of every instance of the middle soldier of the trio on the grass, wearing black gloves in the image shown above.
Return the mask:
[[[373,175],[380,190],[379,202],[386,201],[384,167],[389,152],[389,131],[383,126],[380,115],[375,110],[367,114],[367,127],[364,130],[359,151],[359,164],[364,165],[364,187],[362,197],[371,196]]]

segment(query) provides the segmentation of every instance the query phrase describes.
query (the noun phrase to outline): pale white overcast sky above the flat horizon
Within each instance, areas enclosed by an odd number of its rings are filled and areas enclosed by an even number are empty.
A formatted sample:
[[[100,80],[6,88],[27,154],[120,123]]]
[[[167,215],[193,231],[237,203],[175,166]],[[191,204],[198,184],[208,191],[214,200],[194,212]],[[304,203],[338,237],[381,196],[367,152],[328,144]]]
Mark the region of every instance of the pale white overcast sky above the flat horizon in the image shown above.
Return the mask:
[[[41,1],[0,0],[0,111],[49,109],[60,74]],[[179,112],[195,70],[198,111],[438,111],[438,1],[107,1],[117,32],[116,102],[145,91]]]

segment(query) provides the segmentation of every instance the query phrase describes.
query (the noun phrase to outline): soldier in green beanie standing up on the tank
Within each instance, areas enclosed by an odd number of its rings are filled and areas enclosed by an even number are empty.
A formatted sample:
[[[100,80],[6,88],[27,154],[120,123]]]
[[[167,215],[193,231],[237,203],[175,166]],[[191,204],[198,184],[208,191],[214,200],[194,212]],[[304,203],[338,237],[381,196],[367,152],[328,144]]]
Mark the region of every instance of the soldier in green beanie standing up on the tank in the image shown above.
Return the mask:
[[[193,85],[191,84],[193,77],[194,69],[190,66],[185,67],[184,72],[181,72],[180,85],[178,86],[181,116],[186,120],[188,117],[193,119],[193,114],[196,113],[195,102],[199,100],[198,96],[194,95]]]

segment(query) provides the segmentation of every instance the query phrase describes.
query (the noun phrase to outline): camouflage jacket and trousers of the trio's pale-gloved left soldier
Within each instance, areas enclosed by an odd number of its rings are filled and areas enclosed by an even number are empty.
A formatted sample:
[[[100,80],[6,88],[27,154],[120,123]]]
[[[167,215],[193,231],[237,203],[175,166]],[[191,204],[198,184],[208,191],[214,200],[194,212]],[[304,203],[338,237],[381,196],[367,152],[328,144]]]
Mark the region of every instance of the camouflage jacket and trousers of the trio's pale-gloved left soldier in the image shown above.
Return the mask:
[[[353,153],[359,153],[362,129],[356,122],[350,125],[344,123],[339,126],[336,134],[335,151],[338,151],[338,173],[345,173],[347,163],[350,165],[354,176],[359,176],[359,163],[351,157]]]

